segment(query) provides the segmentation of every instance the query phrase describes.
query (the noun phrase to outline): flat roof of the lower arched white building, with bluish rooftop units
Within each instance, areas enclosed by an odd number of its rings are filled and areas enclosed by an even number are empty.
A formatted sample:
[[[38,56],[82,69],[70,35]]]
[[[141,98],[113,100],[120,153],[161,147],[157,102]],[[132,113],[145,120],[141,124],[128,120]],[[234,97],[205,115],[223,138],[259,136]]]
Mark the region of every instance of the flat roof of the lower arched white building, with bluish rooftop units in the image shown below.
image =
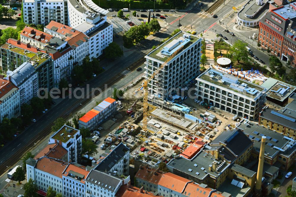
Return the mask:
[[[244,91],[239,91],[237,89],[234,89],[233,87],[231,87],[233,83],[230,84],[230,83],[225,83],[225,81],[223,82],[223,80],[222,80],[223,77],[227,77],[227,78],[231,79],[231,81],[237,80],[237,82],[235,84],[239,85],[238,88],[243,88],[241,86],[244,83],[244,84],[247,85],[246,88],[253,88],[254,90],[257,90],[257,93],[255,92],[255,94],[252,95],[251,92],[248,91],[248,90],[247,91],[245,91],[245,90]],[[248,82],[246,80],[241,80],[241,79],[239,79],[237,77],[234,77],[234,76],[229,75],[229,74],[225,74],[225,73],[220,72],[220,71],[215,70],[215,69],[208,69],[207,71],[205,71],[202,75],[200,75],[197,78],[200,78],[200,79],[205,80],[207,82],[213,83],[215,85],[219,85],[219,86],[221,86],[223,88],[227,88],[227,89],[229,89],[231,91],[234,91],[236,93],[242,94],[242,95],[247,96],[247,97],[250,97],[252,99],[254,99],[256,96],[258,96],[259,93],[261,93],[262,91],[265,90],[265,88],[262,88],[259,85],[255,85],[255,84],[250,83],[250,82]]]

